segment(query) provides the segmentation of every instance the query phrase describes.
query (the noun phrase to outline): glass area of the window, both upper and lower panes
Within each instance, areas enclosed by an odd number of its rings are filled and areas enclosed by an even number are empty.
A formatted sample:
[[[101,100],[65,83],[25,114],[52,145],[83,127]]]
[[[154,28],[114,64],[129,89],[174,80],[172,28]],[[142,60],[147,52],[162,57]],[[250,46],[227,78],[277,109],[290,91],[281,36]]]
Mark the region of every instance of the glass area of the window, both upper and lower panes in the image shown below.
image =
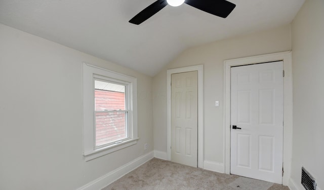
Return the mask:
[[[96,146],[128,138],[125,85],[95,79]]]

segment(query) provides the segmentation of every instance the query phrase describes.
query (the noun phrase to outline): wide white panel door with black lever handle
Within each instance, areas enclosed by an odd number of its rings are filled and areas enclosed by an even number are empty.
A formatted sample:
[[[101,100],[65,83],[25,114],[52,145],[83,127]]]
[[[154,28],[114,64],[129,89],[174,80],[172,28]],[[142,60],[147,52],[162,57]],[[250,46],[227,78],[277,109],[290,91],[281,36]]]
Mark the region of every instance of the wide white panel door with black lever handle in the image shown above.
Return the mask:
[[[282,70],[282,61],[231,68],[231,174],[282,183]]]

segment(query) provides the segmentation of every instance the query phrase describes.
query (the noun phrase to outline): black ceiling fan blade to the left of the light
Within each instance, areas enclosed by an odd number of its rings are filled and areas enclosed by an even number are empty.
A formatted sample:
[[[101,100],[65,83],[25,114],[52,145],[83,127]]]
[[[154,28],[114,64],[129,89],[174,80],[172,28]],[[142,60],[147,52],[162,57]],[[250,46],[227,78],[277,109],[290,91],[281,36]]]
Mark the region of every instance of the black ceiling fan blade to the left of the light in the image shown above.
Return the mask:
[[[150,6],[145,8],[143,11],[139,12],[135,17],[133,17],[129,22],[133,24],[140,24],[153,16],[155,13],[163,9],[168,5],[166,0],[157,0]]]

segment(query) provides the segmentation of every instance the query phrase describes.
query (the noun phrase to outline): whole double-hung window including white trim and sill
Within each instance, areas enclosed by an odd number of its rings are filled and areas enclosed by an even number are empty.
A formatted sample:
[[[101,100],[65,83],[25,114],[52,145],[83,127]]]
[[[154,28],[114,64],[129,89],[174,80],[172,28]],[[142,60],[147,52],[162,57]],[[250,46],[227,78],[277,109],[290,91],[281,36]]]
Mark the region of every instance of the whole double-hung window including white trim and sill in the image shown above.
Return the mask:
[[[83,65],[86,161],[137,143],[137,80]]]

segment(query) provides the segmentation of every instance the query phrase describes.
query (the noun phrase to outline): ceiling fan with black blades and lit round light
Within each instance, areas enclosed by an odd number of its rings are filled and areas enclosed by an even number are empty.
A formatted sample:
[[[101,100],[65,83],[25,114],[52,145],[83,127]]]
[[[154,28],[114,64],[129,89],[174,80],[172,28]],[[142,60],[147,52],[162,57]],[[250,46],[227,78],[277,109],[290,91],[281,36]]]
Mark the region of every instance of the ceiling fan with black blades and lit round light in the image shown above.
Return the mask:
[[[157,0],[139,12],[129,22],[137,25],[141,24],[168,4],[173,7],[178,7],[183,3],[222,18],[226,18],[236,6],[226,0]]]

